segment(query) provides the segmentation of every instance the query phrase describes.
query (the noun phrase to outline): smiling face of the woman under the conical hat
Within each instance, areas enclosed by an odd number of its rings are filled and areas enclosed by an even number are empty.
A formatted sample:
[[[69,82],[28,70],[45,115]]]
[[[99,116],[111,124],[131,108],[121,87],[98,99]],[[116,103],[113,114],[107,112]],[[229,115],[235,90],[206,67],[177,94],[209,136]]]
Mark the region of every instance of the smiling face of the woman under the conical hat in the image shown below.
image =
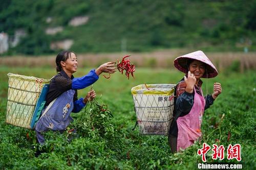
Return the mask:
[[[198,60],[194,60],[193,62],[191,62],[189,64],[188,70],[192,74],[194,74],[194,76],[198,80],[204,75],[205,67],[206,67],[205,63],[198,61]]]

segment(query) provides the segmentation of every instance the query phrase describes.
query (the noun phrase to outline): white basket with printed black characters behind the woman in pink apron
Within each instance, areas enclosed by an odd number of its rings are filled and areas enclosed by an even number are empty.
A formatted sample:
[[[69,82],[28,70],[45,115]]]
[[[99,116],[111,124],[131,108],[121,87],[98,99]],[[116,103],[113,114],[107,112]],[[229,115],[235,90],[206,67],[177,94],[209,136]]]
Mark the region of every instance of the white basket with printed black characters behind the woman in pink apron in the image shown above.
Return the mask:
[[[175,84],[141,84],[132,88],[140,134],[168,135]]]

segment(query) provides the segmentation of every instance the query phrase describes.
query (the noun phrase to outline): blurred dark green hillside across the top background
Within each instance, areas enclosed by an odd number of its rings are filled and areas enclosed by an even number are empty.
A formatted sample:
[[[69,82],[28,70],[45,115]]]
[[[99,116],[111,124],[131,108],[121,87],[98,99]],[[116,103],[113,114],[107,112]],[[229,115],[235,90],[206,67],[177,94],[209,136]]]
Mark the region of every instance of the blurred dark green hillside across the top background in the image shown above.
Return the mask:
[[[0,32],[12,36],[22,28],[28,34],[8,54],[55,53],[51,42],[64,39],[74,40],[71,49],[78,53],[256,50],[256,1],[2,0],[0,11]],[[72,27],[69,21],[75,16],[89,20]],[[62,32],[45,34],[59,26]]]

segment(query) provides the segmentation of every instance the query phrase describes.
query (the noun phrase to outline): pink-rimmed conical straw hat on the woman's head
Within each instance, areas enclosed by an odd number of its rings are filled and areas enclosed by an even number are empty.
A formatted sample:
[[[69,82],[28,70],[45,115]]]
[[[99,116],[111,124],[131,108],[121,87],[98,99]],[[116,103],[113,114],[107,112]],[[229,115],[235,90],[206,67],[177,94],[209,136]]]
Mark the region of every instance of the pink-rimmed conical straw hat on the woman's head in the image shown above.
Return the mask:
[[[206,71],[202,78],[214,78],[218,75],[218,71],[215,68],[214,64],[208,59],[208,57],[202,51],[196,51],[193,53],[186,54],[184,56],[177,57],[174,60],[174,66],[178,68],[178,70],[187,73],[187,60],[194,59],[201,61],[206,64]]]

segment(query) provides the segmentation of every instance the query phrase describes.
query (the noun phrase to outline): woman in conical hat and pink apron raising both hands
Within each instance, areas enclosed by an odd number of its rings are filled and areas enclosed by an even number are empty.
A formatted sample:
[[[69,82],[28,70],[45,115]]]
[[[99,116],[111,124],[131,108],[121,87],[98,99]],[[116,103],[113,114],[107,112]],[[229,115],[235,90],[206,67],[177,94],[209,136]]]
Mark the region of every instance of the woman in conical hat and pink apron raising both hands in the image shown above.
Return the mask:
[[[174,65],[186,74],[175,88],[174,119],[168,135],[172,152],[179,152],[201,137],[204,110],[214,103],[222,88],[214,83],[214,92],[204,98],[201,78],[214,78],[218,71],[202,51],[180,56]]]

